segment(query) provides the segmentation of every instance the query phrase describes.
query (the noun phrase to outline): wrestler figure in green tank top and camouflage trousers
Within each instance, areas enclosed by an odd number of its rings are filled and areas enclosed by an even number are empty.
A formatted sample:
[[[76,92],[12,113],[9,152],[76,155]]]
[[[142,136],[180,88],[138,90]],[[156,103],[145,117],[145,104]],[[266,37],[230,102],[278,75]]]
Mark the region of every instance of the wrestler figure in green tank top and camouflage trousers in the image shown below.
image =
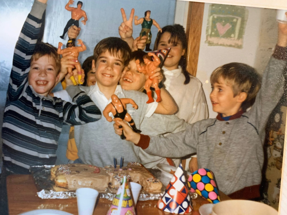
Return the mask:
[[[160,28],[160,25],[156,22],[156,20],[150,18],[150,10],[147,10],[144,12],[144,18],[138,19],[138,16],[135,16],[135,25],[141,24],[141,32],[139,33],[139,36],[147,36],[146,40],[146,51],[152,51],[150,49],[150,44],[152,42],[152,32],[150,31],[150,28],[152,25],[156,26],[158,28],[158,31],[162,32],[162,29]]]

